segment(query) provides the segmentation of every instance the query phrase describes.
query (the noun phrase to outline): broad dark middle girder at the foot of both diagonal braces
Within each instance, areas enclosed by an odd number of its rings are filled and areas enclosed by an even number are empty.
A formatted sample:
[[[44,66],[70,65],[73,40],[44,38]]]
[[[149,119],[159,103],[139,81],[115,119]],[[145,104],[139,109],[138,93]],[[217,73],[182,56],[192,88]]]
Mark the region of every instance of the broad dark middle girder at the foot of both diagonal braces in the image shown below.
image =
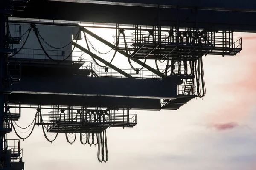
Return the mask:
[[[176,99],[177,77],[130,79],[83,75],[23,76],[19,83],[12,84],[10,91],[19,94]]]

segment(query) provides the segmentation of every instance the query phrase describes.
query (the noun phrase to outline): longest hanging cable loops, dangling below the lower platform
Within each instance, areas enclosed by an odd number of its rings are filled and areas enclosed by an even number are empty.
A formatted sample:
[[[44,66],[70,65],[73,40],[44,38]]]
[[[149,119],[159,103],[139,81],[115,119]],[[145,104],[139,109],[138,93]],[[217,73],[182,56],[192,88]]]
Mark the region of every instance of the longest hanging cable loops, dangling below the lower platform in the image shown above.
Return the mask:
[[[99,135],[98,153],[97,157],[100,162],[108,161],[108,144],[107,144],[107,134],[104,130]]]

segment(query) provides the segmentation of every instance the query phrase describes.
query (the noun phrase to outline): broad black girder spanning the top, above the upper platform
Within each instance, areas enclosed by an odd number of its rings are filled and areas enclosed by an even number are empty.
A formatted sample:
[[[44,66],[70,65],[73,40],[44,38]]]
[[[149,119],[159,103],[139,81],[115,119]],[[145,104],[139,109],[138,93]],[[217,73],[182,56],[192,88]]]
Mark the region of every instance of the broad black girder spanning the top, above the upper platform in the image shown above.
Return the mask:
[[[148,3],[151,2],[156,1],[148,1]],[[168,0],[165,0],[164,2],[168,3]],[[250,0],[249,3],[244,3],[243,1],[238,2],[238,0],[234,2],[232,1],[231,3],[226,3],[226,1],[221,3],[220,1],[217,1],[216,3],[212,1],[212,3],[209,3],[208,1],[203,0],[197,0],[196,3],[195,1],[190,2],[190,0],[170,1],[170,3],[175,4],[174,2],[177,4],[188,4],[188,6],[190,4],[192,8],[179,8],[179,10],[177,10],[177,8],[151,8],[142,6],[105,5],[100,3],[33,0],[29,2],[24,11],[14,11],[12,17],[67,20],[95,24],[119,23],[130,26],[133,24],[147,26],[156,26],[158,24],[161,26],[177,26],[177,23],[179,23],[180,27],[198,26],[198,28],[256,32],[256,23],[253,22],[256,20],[256,14],[255,12],[250,12],[255,8],[255,1],[253,0]],[[231,8],[235,9],[236,7],[241,6],[241,8],[248,8],[248,10],[219,10],[218,7],[221,6],[222,3],[224,7],[231,6]],[[210,9],[195,9],[195,6],[208,8],[207,5]],[[216,8],[216,10],[212,10],[213,8]]]

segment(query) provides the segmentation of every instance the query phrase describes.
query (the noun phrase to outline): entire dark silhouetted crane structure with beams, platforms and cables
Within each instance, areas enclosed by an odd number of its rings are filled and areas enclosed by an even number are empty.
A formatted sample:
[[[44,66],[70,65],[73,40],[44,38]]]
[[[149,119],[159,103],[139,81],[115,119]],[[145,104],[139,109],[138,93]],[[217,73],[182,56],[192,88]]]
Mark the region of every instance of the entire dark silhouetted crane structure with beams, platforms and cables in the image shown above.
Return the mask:
[[[71,0],[1,0],[0,168],[24,168],[19,140],[10,144],[11,140],[6,137],[12,128],[20,139],[26,139],[35,125],[41,125],[47,141],[52,142],[58,133],[65,133],[70,144],[79,133],[81,144],[98,145],[98,160],[102,162],[108,161],[106,129],[137,124],[137,116],[130,114],[131,109],[177,110],[191,99],[203,97],[206,89],[202,57],[207,54],[236,55],[242,50],[242,39],[234,37],[233,32],[256,31],[256,23],[252,22],[256,16],[255,2],[228,1],[195,3],[191,0],[180,4],[172,0],[153,0],[148,4],[147,0],[137,0],[136,3],[133,0],[83,0],[80,3]],[[74,21],[101,24],[82,27]],[[31,27],[22,47],[15,51],[12,45],[19,44],[25,35],[21,35],[18,23],[29,23]],[[50,51],[55,54],[61,53],[61,48],[44,40],[38,24],[78,27],[78,33],[70,42],[74,45],[72,51],[66,51],[68,55],[49,55],[44,46],[52,48]],[[113,43],[86,27],[116,29]],[[134,32],[127,36],[125,30]],[[77,43],[81,41],[80,33],[84,35],[86,47]],[[41,50],[23,48],[30,34],[35,34]],[[93,46],[88,35],[114,50],[110,62],[91,51],[106,54]],[[75,53],[75,47],[82,51],[79,59],[68,61]],[[127,57],[131,68],[111,64],[116,53]],[[17,54],[40,55],[45,59],[15,58]],[[92,60],[85,60],[84,54]],[[147,65],[147,60],[154,60],[156,69]],[[135,68],[131,61],[141,68]],[[161,70],[159,63],[164,61],[165,68]],[[17,111],[12,113],[12,108]],[[33,122],[25,128],[15,122],[20,118],[22,108],[36,109]],[[42,114],[42,109],[52,111]],[[22,137],[18,128],[32,130]],[[47,133],[56,136],[52,140]],[[70,134],[73,134],[72,141]]]

